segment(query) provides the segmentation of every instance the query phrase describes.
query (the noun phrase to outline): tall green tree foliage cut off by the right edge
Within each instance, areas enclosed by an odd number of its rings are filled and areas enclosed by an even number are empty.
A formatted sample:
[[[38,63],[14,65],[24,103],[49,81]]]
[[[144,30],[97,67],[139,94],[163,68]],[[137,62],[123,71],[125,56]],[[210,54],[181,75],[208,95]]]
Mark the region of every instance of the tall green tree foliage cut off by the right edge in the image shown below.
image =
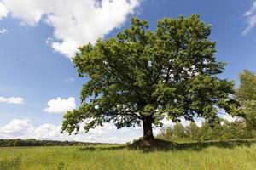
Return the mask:
[[[236,98],[241,103],[248,130],[256,131],[256,74],[251,71],[243,71],[240,74],[240,82]]]

